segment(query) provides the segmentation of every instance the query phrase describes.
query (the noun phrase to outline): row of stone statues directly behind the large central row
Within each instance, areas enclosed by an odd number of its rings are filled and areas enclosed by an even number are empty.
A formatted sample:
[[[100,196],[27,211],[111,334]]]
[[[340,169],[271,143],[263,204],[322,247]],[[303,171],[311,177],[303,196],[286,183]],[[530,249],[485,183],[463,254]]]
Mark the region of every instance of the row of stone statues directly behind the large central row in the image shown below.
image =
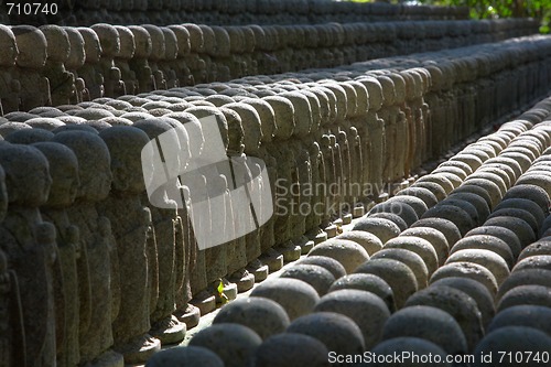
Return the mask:
[[[530,20],[292,26],[0,26],[4,114],[533,33]],[[421,30],[423,32],[421,32]]]

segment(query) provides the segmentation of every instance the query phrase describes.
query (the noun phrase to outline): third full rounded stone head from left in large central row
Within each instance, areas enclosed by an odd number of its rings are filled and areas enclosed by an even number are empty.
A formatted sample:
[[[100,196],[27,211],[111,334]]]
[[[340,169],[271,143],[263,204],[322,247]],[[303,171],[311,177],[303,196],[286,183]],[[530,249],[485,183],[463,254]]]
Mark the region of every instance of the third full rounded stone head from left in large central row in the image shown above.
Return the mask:
[[[77,198],[85,202],[100,202],[109,195],[111,187],[111,159],[109,149],[96,133],[66,130],[57,133],[54,142],[67,145],[78,160],[80,185]]]

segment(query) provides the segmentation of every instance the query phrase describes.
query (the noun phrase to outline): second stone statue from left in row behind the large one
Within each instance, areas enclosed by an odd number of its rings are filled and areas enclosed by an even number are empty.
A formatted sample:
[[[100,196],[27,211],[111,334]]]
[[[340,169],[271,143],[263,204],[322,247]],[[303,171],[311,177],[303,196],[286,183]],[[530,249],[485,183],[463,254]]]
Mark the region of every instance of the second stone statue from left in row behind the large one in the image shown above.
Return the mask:
[[[52,105],[50,80],[42,76],[46,63],[46,37],[32,25],[12,28],[19,48],[18,79],[21,85],[20,110]]]

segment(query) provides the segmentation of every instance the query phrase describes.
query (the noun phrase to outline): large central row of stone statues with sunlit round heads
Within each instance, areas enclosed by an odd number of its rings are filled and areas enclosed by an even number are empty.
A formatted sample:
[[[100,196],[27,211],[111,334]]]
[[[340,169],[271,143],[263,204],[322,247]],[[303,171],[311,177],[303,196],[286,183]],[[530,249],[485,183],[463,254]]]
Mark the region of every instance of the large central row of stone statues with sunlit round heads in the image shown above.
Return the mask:
[[[9,347],[0,360],[143,361],[160,343],[181,341],[197,310],[298,258],[335,233],[334,219],[360,215],[385,184],[400,186],[428,159],[545,94],[550,56],[551,40],[532,36],[4,115],[0,339]],[[215,148],[206,117],[229,158],[266,163],[269,183],[258,184],[271,186],[274,216],[199,249],[201,234],[239,230],[230,174],[197,168],[187,179],[203,187],[188,197],[210,213],[197,224],[193,205],[164,194],[165,205],[151,204],[141,154],[182,131],[172,140],[185,152],[176,169],[191,164]],[[208,201],[213,193],[223,204]]]

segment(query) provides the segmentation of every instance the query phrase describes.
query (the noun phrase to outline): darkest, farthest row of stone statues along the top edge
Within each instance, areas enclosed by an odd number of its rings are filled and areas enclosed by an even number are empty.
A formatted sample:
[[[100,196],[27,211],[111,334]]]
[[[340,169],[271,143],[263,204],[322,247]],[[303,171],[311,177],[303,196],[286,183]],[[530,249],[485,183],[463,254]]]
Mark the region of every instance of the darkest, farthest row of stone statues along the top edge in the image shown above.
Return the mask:
[[[2,9],[6,24],[110,24],[156,25],[179,23],[205,24],[315,24],[326,22],[365,22],[396,20],[457,20],[468,19],[465,7],[431,7],[390,4],[385,2],[357,3],[329,0],[239,0],[239,1],[61,1],[55,11],[37,14],[7,13]]]

